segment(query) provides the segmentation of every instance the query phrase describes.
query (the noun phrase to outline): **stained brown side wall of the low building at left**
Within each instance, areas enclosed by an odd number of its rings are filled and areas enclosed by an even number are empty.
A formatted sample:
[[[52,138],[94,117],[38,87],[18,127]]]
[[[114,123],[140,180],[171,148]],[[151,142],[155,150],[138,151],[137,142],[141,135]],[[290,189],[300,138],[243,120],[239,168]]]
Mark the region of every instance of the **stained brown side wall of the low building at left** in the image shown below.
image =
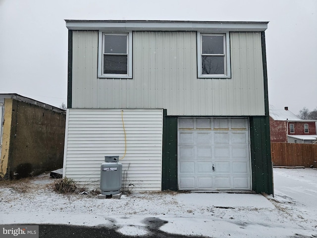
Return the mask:
[[[5,177],[23,178],[62,168],[66,115],[18,100],[12,101],[11,108],[6,106],[12,117],[6,132],[10,138]]]

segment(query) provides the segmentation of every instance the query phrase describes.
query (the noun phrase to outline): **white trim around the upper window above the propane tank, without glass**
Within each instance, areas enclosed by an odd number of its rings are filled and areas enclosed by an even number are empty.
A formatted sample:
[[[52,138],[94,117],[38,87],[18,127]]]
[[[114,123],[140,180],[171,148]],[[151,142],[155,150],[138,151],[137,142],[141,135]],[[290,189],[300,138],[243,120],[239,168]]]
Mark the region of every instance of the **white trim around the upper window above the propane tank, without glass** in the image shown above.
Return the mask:
[[[104,72],[104,36],[105,35],[126,35],[128,65],[126,74],[106,74]],[[132,31],[128,32],[99,32],[98,36],[98,78],[132,78]]]

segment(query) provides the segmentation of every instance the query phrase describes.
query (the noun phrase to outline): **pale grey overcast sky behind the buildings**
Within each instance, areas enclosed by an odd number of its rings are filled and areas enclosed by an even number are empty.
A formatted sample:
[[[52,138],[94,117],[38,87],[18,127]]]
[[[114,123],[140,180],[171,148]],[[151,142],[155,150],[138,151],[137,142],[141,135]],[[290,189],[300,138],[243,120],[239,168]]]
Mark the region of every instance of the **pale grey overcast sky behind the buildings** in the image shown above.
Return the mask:
[[[317,108],[317,0],[0,0],[0,93],[67,102],[64,19],[269,21],[269,104]]]

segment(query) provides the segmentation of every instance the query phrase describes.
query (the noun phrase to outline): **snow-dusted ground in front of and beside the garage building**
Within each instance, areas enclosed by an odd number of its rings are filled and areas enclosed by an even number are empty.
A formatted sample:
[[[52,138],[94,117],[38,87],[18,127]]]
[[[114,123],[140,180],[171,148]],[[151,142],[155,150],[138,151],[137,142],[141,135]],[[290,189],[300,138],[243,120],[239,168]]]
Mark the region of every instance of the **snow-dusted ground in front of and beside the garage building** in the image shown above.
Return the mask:
[[[0,224],[117,227],[148,233],[147,218],[166,233],[205,237],[317,237],[317,170],[274,168],[275,196],[245,193],[147,192],[121,199],[52,191],[49,174],[0,182]]]

